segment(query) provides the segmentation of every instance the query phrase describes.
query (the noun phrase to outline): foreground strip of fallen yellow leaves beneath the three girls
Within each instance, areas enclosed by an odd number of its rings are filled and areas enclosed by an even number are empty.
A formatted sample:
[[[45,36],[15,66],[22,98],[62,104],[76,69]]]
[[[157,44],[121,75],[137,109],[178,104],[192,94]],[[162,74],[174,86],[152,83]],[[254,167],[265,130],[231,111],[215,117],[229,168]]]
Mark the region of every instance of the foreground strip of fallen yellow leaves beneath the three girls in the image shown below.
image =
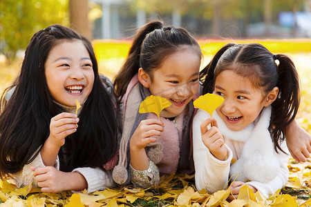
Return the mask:
[[[40,188],[15,188],[3,181],[0,206],[311,206],[310,161],[297,164],[290,159],[288,183],[267,199],[245,186],[238,199],[228,202],[229,189],[209,195],[196,190],[194,175],[169,175],[161,177],[157,188],[118,186],[92,194],[41,193]]]

